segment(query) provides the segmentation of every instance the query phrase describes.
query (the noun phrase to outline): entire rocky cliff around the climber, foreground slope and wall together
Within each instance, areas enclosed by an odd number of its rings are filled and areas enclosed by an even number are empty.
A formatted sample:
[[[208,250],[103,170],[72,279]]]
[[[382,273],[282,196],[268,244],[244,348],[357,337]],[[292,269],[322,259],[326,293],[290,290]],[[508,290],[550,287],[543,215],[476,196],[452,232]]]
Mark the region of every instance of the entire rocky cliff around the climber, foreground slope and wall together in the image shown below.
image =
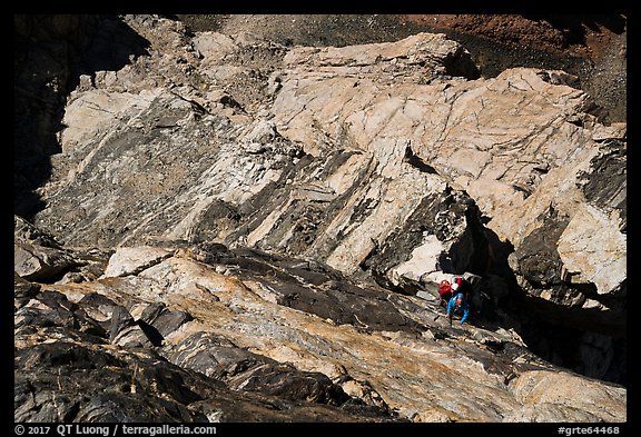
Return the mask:
[[[17,420],[625,420],[625,123],[575,77],[71,24],[121,64],[70,56],[63,128],[17,127],[59,147],[16,167]]]

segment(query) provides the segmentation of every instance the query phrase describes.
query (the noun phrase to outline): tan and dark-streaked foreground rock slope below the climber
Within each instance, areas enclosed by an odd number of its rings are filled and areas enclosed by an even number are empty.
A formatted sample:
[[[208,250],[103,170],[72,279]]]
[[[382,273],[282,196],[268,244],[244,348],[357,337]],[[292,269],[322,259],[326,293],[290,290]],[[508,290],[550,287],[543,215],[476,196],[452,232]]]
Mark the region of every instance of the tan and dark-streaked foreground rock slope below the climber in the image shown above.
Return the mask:
[[[17,279],[16,419],[625,420],[624,388],[545,362],[513,330],[451,327],[436,302],[329,267],[217,249],[80,284]]]

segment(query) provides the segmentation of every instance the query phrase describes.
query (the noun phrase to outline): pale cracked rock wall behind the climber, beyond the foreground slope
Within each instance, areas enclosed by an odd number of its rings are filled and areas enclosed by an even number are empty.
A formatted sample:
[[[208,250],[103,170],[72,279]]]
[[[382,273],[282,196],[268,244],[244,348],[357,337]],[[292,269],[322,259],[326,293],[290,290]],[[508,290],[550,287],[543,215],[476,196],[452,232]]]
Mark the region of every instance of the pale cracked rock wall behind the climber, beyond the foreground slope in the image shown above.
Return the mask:
[[[34,222],[60,247],[249,247],[428,300],[441,278],[467,271],[483,278],[479,322],[500,316],[523,336],[542,318],[579,327],[573,365],[624,375],[613,367],[624,355],[625,126],[600,125],[566,75],[469,79],[465,50],[437,34],[288,49],[124,21],[149,56],[79,77],[38,189],[47,208]],[[304,292],[260,289],[313,308]],[[358,325],[353,309],[326,308]]]

